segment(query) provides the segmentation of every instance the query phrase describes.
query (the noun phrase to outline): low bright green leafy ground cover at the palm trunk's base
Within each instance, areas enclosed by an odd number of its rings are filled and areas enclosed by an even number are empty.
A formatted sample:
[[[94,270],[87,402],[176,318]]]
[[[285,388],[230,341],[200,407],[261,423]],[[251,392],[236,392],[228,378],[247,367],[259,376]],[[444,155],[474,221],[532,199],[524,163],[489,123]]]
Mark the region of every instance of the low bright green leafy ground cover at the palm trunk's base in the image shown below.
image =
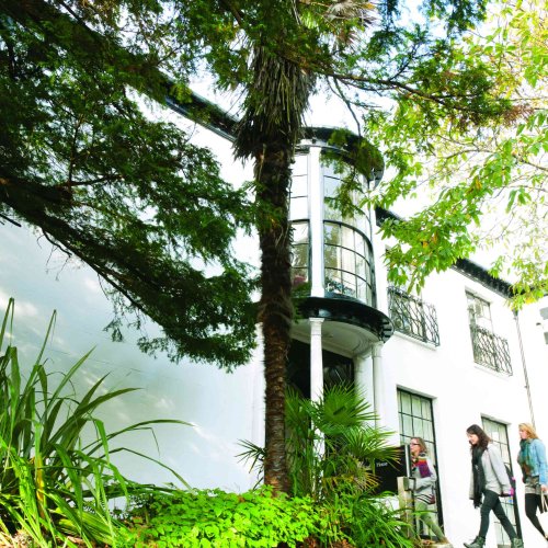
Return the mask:
[[[263,488],[242,494],[179,491],[141,499],[133,509],[119,546],[225,548],[300,546],[316,537],[322,546],[344,538],[334,513],[309,498],[273,496]]]

